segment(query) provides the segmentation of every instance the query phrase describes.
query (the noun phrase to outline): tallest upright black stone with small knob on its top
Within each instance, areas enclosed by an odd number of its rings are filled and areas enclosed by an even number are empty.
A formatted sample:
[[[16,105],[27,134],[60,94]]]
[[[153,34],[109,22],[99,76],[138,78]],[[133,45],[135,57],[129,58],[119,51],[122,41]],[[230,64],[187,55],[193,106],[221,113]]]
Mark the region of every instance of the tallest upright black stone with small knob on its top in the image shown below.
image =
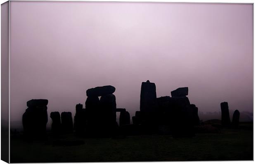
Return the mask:
[[[140,111],[152,112],[157,109],[155,83],[142,82],[140,90]]]

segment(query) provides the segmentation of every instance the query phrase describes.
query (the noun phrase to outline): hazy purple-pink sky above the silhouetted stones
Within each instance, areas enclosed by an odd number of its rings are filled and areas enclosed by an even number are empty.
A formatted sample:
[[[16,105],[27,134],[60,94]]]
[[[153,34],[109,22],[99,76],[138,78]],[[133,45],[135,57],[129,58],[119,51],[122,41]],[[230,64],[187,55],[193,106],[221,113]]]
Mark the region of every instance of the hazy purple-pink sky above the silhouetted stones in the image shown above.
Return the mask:
[[[10,119],[30,99],[74,115],[102,85],[134,115],[148,79],[157,97],[188,86],[199,111],[252,112],[252,16],[249,4],[12,1]]]

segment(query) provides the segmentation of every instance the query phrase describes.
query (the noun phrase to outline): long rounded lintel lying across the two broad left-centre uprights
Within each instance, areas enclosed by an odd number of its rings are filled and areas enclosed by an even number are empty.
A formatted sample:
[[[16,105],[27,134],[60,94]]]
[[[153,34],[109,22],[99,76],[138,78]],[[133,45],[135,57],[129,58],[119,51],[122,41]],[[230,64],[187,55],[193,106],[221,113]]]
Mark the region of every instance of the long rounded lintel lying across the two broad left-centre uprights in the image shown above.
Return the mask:
[[[113,87],[111,85],[106,85],[106,86],[102,86],[102,87],[90,88],[90,89],[86,90],[86,95],[88,97],[104,96],[104,95],[109,95],[109,94],[114,93],[115,90],[116,90],[115,87]]]

